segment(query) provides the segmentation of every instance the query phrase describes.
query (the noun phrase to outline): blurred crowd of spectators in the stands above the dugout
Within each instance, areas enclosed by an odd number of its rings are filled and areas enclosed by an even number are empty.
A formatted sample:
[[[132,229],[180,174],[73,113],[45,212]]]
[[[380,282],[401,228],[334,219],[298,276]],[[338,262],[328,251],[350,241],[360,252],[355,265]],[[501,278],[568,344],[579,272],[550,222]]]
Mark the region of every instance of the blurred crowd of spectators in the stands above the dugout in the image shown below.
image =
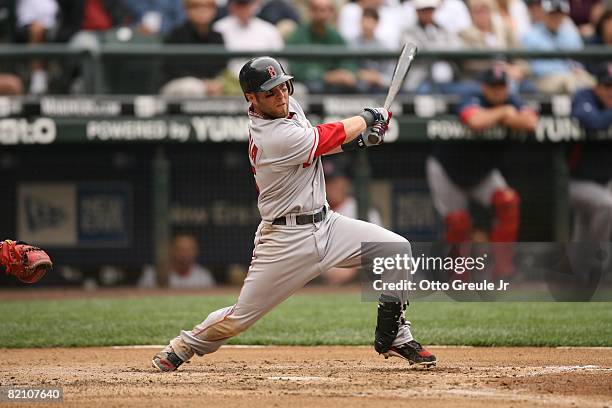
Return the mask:
[[[612,43],[610,0],[0,0],[3,43],[107,42],[216,44],[232,51],[278,51],[293,44],[397,50],[579,50]],[[161,93],[238,94],[238,60],[166,61]],[[384,92],[389,60],[291,60],[296,80],[315,93]],[[462,94],[478,89],[493,61],[418,61],[405,91]],[[595,63],[512,60],[513,90],[574,93],[595,84]],[[40,59],[0,65],[0,94],[58,92],[57,67]],[[62,75],[66,75],[64,72]],[[75,76],[78,76],[75,74]],[[65,79],[65,78],[64,78]],[[64,81],[65,82],[65,81]],[[78,87],[69,88],[74,91]],[[60,91],[61,92],[61,91]]]

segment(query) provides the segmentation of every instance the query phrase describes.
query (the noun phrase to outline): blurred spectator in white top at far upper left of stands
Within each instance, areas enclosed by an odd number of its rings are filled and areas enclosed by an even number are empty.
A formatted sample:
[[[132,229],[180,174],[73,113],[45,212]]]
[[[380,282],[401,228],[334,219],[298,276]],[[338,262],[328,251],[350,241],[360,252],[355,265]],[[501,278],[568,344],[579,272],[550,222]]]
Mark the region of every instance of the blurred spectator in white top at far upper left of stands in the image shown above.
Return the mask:
[[[41,44],[50,40],[50,32],[57,24],[57,11],[55,0],[17,0],[17,42]],[[44,94],[47,88],[45,64],[41,60],[31,61],[29,92]]]

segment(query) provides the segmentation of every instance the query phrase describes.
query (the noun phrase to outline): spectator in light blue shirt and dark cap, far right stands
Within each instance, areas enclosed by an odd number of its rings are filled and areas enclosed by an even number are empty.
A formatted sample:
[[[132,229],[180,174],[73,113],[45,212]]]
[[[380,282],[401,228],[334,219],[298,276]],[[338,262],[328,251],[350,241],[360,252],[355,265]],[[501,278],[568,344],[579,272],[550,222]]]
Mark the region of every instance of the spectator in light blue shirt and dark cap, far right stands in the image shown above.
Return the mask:
[[[535,24],[523,37],[529,50],[579,50],[583,43],[576,26],[567,17],[567,0],[543,0],[543,23]],[[593,78],[577,63],[560,59],[533,60],[531,71],[543,93],[573,93],[592,86]]]

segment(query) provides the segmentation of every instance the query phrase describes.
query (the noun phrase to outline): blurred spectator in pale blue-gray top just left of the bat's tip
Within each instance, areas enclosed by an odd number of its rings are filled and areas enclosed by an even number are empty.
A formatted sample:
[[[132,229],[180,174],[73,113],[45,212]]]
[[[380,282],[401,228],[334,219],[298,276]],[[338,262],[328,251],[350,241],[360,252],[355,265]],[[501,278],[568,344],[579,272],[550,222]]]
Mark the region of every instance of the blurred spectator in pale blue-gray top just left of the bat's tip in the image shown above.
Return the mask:
[[[386,48],[376,39],[378,11],[365,9],[361,17],[361,34],[349,45],[353,49],[379,51]],[[393,61],[385,59],[360,59],[357,71],[360,89],[363,92],[386,92],[393,77]]]

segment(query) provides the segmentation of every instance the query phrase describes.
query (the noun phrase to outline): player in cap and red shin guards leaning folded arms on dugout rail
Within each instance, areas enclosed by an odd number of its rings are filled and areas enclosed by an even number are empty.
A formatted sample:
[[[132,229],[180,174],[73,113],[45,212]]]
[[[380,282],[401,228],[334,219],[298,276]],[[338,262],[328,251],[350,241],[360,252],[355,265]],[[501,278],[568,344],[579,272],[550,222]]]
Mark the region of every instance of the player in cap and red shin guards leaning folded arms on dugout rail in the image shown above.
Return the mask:
[[[502,66],[496,66],[482,77],[480,92],[467,96],[457,110],[461,122],[478,137],[479,132],[494,127],[509,131],[534,132],[538,115],[510,94],[508,77]],[[470,201],[490,209],[492,242],[514,242],[519,230],[518,193],[508,186],[499,171],[503,146],[499,143],[436,144],[426,162],[426,173],[434,206],[445,224],[448,243],[469,241],[472,218]],[[496,251],[497,250],[497,251]],[[493,248],[494,273],[498,277],[512,274],[512,251]]]

